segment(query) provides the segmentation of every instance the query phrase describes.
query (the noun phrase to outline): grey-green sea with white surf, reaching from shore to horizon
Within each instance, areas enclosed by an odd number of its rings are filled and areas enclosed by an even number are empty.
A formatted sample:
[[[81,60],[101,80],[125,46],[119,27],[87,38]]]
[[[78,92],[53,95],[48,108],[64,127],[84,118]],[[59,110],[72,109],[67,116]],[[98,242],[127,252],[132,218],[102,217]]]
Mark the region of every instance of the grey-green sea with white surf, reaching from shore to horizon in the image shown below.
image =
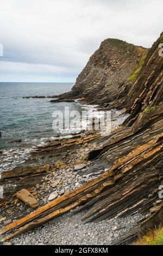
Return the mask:
[[[70,111],[82,113],[88,106],[78,102],[50,103],[50,98],[23,98],[57,95],[70,91],[72,86],[72,83],[0,83],[0,150],[3,150],[0,172],[23,163],[36,146],[77,132],[76,126],[70,130],[54,130],[53,111],[64,111],[68,106]],[[10,142],[16,139],[22,142]]]

